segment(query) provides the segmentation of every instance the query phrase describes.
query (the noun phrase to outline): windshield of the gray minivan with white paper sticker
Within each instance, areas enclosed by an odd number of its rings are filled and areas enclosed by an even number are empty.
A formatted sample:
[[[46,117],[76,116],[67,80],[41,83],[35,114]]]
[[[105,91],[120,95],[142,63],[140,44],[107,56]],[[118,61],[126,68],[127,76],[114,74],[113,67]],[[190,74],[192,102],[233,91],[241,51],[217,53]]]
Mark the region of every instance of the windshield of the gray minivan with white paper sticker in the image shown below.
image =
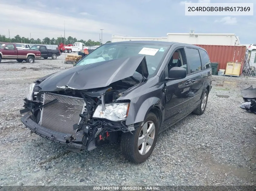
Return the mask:
[[[145,55],[149,75],[155,74],[170,46],[141,43],[105,44],[81,59],[75,66],[106,60]]]

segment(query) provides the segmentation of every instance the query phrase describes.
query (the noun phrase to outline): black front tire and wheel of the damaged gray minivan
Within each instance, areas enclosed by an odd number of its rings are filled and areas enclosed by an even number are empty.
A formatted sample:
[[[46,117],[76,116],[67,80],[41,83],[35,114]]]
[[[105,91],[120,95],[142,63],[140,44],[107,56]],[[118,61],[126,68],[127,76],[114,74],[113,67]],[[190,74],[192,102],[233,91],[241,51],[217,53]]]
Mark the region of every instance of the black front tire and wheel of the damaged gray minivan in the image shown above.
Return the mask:
[[[135,131],[132,131],[133,134],[130,132],[125,132],[121,135],[121,153],[127,160],[134,163],[142,163],[150,157],[158,138],[158,118],[154,113],[149,113],[145,119],[145,122],[142,124],[143,125],[136,128]],[[148,127],[152,128],[154,127],[153,125],[155,128],[152,129],[150,134],[148,134]],[[143,132],[143,128],[146,128],[145,132]],[[145,136],[148,137],[148,139],[143,139]],[[151,139],[149,139],[149,137],[151,137]],[[141,145],[138,145],[139,140],[141,140]],[[148,144],[149,142],[147,140],[151,140],[151,145]],[[145,149],[143,149],[144,147]]]

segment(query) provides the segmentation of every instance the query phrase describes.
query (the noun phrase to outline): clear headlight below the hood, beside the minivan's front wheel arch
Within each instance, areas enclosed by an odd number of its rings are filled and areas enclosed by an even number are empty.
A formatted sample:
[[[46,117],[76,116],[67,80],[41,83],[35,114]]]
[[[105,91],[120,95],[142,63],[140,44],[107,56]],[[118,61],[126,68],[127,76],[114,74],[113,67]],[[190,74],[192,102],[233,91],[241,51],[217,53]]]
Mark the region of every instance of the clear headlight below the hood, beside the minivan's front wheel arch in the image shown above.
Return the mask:
[[[102,111],[99,105],[93,113],[93,118],[109,119],[111,121],[121,121],[127,118],[129,103],[106,104],[106,110]]]

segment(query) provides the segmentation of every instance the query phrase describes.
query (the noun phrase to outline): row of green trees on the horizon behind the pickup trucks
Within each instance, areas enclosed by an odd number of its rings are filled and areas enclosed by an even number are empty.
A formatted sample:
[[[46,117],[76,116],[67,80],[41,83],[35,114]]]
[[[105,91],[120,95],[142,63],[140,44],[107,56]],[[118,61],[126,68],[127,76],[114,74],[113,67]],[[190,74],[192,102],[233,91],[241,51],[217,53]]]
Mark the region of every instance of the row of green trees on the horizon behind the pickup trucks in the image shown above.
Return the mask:
[[[89,40],[77,40],[76,38],[73,38],[69,36],[68,38],[64,37],[58,37],[57,39],[52,38],[50,39],[49,37],[45,37],[44,39],[34,39],[31,38],[29,39],[28,37],[21,37],[20,35],[16,35],[14,38],[8,38],[5,35],[0,34],[0,42],[11,42],[11,43],[28,43],[28,44],[52,44],[52,45],[58,45],[59,43],[65,42],[65,44],[74,44],[75,42],[81,42],[84,43],[85,46],[99,46],[100,42],[99,41],[93,41],[91,39]],[[110,43],[111,41],[107,41],[106,43]]]

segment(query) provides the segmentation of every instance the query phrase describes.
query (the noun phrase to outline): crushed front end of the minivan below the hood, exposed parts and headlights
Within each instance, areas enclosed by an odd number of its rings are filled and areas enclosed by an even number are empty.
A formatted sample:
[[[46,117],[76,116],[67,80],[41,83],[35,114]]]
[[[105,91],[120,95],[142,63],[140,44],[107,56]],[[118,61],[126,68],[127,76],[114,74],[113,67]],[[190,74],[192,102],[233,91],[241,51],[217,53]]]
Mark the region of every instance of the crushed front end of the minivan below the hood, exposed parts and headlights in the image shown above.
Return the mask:
[[[117,100],[132,86],[118,81],[94,90],[60,87],[57,92],[44,92],[34,83],[20,110],[21,120],[35,134],[64,143],[69,150],[90,151],[106,139],[116,142],[121,132],[132,132],[138,126],[125,124],[129,100]]]

